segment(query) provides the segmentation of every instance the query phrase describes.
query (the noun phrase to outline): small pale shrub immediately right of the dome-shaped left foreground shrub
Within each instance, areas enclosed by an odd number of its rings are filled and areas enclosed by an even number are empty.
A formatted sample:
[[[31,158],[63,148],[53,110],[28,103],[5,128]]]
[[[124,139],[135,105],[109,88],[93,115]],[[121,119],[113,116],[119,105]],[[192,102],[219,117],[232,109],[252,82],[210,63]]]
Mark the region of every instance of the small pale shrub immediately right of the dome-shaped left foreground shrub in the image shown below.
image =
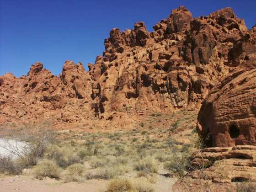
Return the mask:
[[[66,181],[83,182],[85,166],[82,164],[73,164],[67,167]]]

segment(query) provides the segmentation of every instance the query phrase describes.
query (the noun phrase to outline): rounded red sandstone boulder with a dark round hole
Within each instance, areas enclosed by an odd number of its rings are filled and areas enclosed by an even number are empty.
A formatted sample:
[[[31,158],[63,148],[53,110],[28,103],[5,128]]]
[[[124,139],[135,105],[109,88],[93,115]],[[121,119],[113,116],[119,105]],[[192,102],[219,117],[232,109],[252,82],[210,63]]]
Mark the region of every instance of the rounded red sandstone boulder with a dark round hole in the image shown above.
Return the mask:
[[[209,147],[256,145],[256,68],[225,77],[210,91],[198,114],[197,131]]]

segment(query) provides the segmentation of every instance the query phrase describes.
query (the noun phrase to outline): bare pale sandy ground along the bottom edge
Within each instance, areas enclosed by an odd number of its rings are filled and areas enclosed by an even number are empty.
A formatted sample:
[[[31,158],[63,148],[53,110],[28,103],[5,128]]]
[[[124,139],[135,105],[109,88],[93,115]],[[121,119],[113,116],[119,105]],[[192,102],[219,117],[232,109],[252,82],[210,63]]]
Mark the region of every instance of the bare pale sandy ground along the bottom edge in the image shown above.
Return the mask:
[[[170,177],[157,176],[155,192],[172,192],[175,182]],[[0,192],[104,192],[108,181],[88,180],[84,183],[57,181],[55,179],[37,180],[33,176],[5,176],[0,178]]]

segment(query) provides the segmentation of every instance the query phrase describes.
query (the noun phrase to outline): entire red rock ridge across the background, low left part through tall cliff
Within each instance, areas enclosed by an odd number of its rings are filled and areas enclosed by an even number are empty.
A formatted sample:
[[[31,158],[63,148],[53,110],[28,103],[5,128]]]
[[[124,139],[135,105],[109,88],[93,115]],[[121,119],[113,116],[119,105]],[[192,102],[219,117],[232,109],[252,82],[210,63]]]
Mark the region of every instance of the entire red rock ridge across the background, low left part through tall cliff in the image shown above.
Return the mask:
[[[247,30],[231,8],[192,18],[181,6],[153,28],[112,29],[89,71],[67,61],[60,76],[41,63],[27,76],[0,76],[0,123],[100,118],[130,125],[147,110],[199,107],[224,76],[255,64],[256,27]]]

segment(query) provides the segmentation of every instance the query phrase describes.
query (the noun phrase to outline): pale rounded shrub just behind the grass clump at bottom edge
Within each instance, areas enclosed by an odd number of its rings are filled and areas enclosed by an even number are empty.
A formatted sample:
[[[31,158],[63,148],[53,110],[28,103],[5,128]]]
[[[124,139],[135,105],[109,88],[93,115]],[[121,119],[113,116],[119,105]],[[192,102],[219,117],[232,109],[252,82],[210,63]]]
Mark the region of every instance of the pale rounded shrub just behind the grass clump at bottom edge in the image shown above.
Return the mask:
[[[150,173],[157,173],[158,172],[158,165],[157,161],[152,157],[144,157],[139,162],[135,163],[134,169],[136,171],[146,171]]]

